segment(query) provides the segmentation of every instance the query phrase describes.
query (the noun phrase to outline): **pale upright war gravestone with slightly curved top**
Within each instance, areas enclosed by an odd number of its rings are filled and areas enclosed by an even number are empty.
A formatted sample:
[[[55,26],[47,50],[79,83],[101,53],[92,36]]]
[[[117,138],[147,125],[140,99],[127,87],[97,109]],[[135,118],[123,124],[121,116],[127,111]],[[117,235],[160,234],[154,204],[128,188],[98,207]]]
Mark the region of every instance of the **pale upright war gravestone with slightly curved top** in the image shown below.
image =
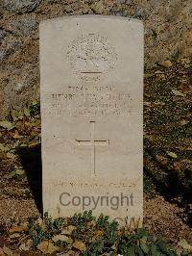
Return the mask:
[[[40,23],[43,210],[142,222],[143,26],[83,15]]]

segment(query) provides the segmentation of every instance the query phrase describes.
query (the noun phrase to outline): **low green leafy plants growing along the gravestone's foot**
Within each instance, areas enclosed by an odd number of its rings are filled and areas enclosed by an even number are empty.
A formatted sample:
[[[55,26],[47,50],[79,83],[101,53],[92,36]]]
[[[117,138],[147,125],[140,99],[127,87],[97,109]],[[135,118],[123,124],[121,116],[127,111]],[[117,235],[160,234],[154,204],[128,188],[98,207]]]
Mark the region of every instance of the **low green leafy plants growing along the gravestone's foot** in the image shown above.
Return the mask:
[[[74,227],[68,234],[68,241],[54,241],[57,235],[62,236],[61,230]],[[111,221],[107,216],[101,215],[96,218],[92,212],[75,214],[71,218],[52,219],[48,214],[39,222],[37,218],[29,218],[29,235],[33,241],[33,249],[38,248],[39,243],[44,241],[53,243],[67,251],[74,248],[75,243],[84,244],[84,249],[75,247],[82,251],[83,256],[100,255],[132,255],[132,256],[175,256],[174,248],[162,239],[157,239],[144,229],[138,229],[132,233],[120,230],[116,221]],[[64,236],[66,238],[66,236]]]

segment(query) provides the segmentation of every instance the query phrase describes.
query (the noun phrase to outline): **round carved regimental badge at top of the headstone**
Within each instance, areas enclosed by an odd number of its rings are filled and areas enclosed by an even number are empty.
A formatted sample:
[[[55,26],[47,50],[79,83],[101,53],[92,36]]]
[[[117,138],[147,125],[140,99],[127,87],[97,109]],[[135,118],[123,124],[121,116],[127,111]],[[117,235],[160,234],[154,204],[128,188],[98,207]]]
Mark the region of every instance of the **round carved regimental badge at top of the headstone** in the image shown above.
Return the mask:
[[[96,81],[114,67],[117,54],[107,38],[88,34],[76,38],[68,47],[72,70],[85,81]]]

